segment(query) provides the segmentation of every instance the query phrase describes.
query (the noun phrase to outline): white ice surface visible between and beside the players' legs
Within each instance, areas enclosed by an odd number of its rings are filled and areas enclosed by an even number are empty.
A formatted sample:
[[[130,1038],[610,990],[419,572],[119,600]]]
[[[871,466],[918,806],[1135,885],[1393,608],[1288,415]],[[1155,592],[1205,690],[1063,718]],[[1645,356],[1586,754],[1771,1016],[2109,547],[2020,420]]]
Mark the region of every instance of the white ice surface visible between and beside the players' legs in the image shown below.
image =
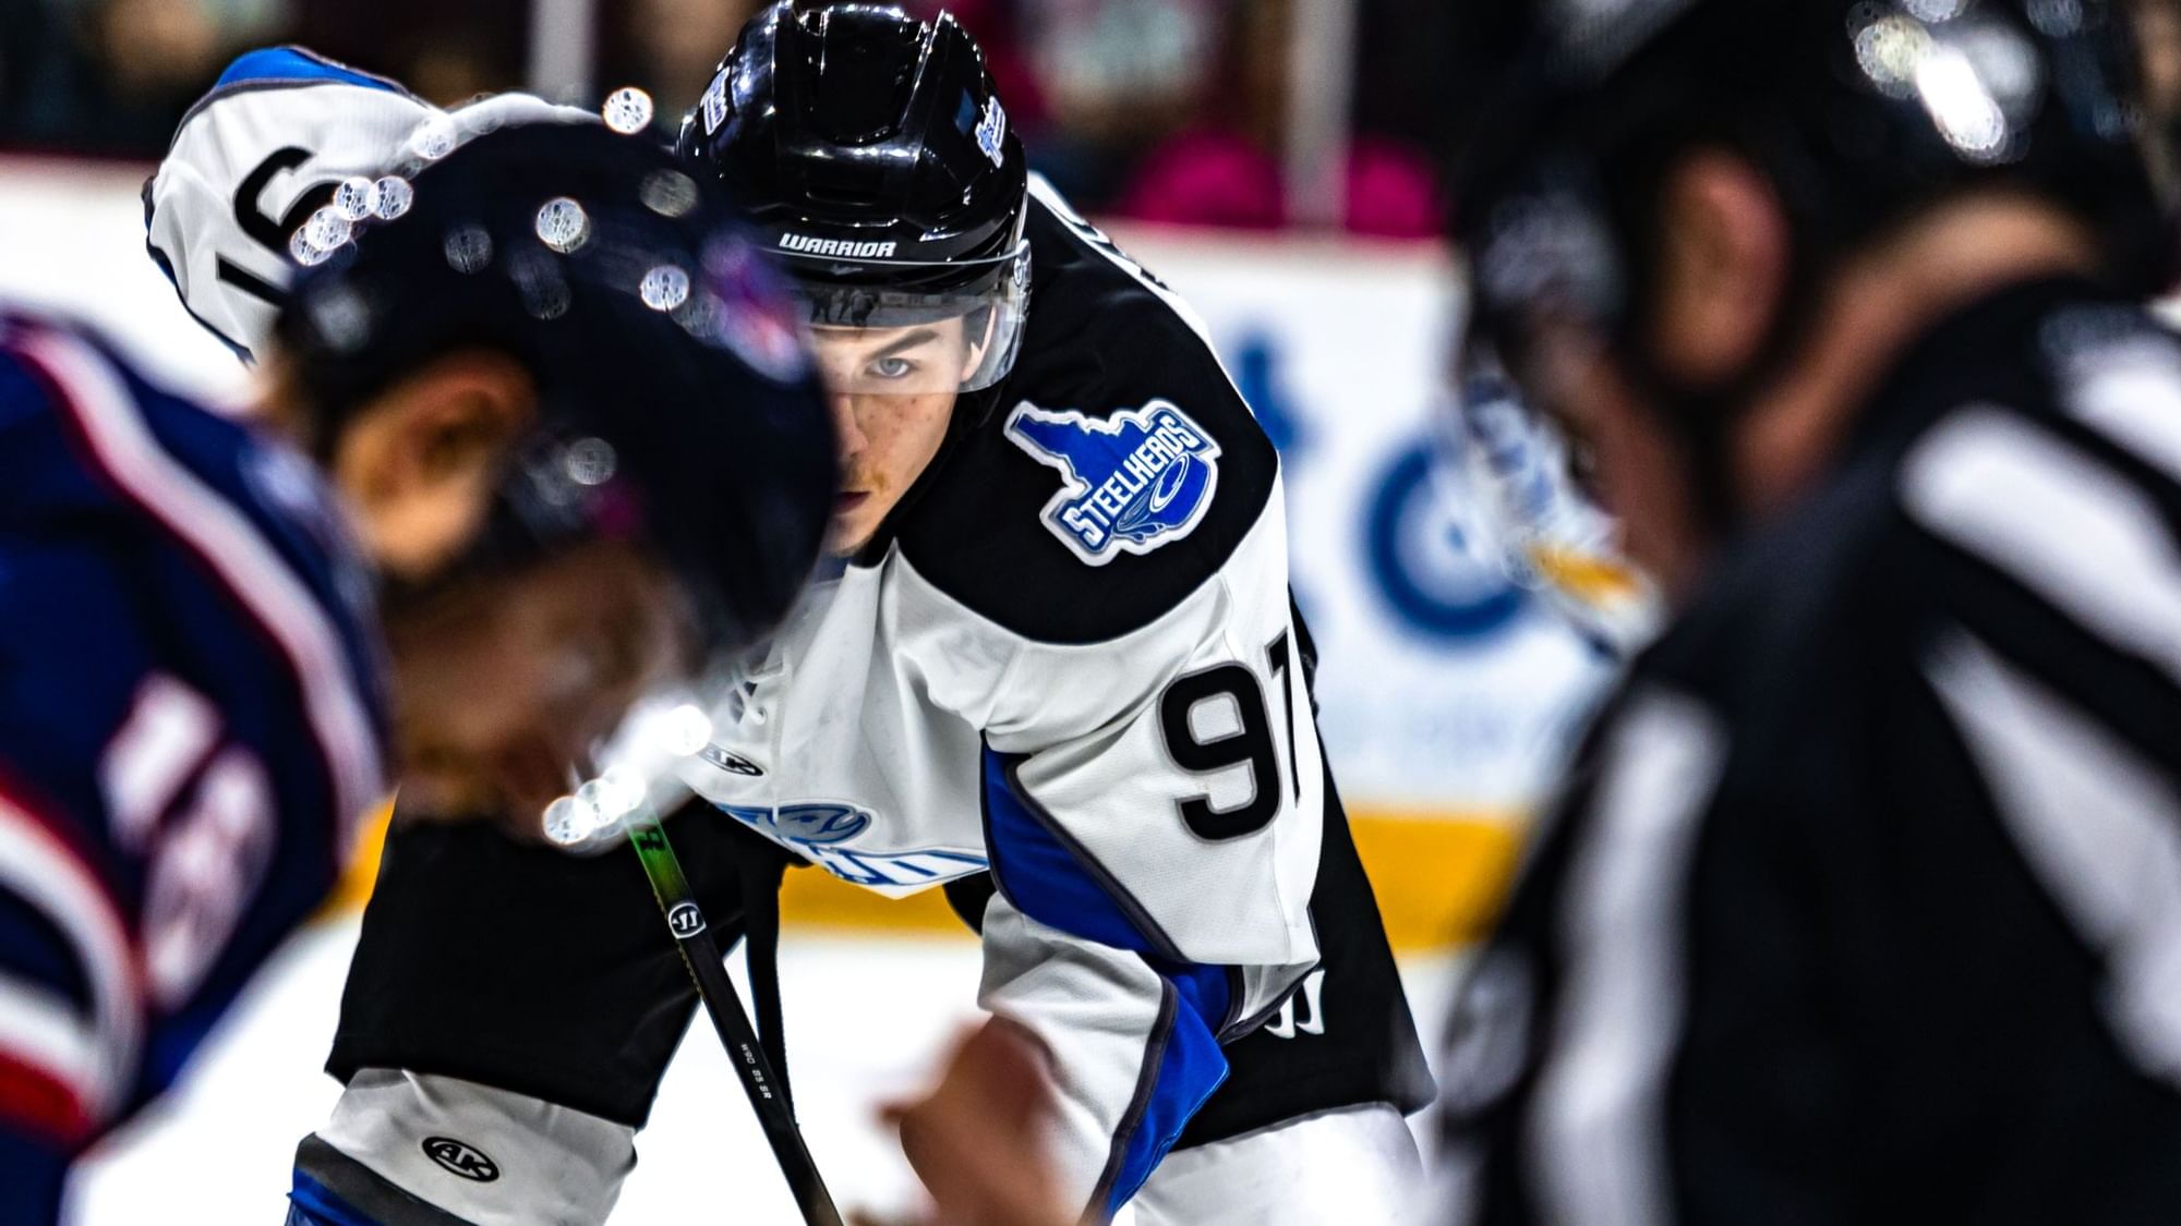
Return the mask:
[[[294,1143],[325,1119],[338,1093],[321,1065],[353,945],[353,918],[290,940],[181,1091],[81,1167],[70,1222],[279,1226]],[[739,986],[739,953],[728,966]],[[1405,973],[1435,1051],[1448,960],[1409,960]],[[796,1110],[842,1209],[916,1204],[914,1176],[875,1110],[914,1093],[953,1032],[977,1019],[977,945],[787,934],[781,990]],[[800,1222],[726,1054],[702,1021],[667,1069],[637,1156],[615,1224]]]

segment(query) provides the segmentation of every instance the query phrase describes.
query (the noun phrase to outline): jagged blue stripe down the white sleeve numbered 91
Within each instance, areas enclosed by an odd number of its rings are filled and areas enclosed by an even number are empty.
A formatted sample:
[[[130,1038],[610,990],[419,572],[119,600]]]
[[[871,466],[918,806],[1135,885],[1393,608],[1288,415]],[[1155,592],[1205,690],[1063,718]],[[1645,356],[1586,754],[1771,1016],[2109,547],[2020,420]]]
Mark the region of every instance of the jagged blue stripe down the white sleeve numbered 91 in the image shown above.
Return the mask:
[[[1145,1069],[1136,1104],[1114,1137],[1112,1182],[1104,1213],[1119,1211],[1152,1176],[1204,1099],[1226,1082],[1219,1030],[1232,1008],[1232,984],[1219,966],[1184,962],[1141,908],[1123,903],[1101,881],[1058,825],[1023,796],[1014,768],[1021,757],[984,750],[986,851],[992,881],[1025,916],[1112,949],[1128,949],[1167,979],[1169,1003],[1152,1036],[1156,1067]],[[1134,916],[1130,914],[1134,912]],[[1136,918],[1141,916],[1141,918]]]

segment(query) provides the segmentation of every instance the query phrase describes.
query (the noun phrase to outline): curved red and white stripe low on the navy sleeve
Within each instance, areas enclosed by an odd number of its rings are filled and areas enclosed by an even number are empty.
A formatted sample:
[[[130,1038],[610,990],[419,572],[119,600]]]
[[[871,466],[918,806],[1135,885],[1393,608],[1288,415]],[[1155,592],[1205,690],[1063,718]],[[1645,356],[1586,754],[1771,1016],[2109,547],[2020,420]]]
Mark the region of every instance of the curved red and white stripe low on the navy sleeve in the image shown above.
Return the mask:
[[[126,1095],[144,1034],[144,975],[113,894],[59,827],[0,792],[0,892],[46,916],[92,986],[92,1014],[0,973],[0,1117],[72,1143]]]

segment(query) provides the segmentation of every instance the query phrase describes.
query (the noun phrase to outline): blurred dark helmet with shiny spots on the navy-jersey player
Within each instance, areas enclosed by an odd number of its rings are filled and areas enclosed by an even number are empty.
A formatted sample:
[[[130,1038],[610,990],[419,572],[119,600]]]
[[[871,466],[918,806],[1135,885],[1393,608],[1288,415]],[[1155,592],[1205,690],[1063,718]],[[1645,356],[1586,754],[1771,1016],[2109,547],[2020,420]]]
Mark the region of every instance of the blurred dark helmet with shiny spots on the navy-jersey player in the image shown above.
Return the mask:
[[[299,236],[275,325],[312,445],[460,347],[513,356],[539,395],[475,543],[388,600],[628,541],[689,598],[683,681],[731,672],[818,563],[835,441],[787,286],[726,194],[602,124],[506,127],[373,194],[397,207],[353,233],[321,209]]]

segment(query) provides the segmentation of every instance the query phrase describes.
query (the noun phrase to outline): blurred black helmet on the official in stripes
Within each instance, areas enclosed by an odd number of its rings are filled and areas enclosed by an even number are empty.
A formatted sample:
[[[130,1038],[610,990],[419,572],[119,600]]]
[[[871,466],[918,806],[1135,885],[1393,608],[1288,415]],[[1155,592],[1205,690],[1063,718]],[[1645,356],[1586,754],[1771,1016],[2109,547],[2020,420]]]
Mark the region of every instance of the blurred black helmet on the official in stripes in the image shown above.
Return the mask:
[[[1699,144],[1747,157],[1788,212],[1791,301],[1758,366],[1843,251],[1983,183],[2085,218],[2120,290],[2166,273],[2111,0],[1496,0],[1461,7],[1453,52],[1455,238],[1474,332],[1503,349],[1575,316],[1655,377],[1627,345],[1649,209]]]

